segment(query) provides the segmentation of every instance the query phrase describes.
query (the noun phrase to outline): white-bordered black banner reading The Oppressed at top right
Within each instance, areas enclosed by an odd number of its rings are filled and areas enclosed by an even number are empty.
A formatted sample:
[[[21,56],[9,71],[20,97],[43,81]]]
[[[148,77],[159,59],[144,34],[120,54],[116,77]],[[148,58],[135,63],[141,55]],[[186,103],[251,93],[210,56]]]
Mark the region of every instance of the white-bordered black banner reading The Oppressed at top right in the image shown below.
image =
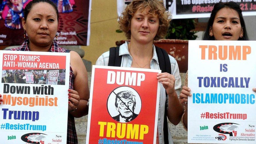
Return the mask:
[[[118,16],[121,15],[127,4],[132,0],[117,0]],[[231,0],[163,0],[164,6],[172,14],[173,19],[184,18],[208,18],[213,6],[218,2],[229,2]],[[243,11],[243,16],[256,15],[255,0],[232,0],[236,2]]]

